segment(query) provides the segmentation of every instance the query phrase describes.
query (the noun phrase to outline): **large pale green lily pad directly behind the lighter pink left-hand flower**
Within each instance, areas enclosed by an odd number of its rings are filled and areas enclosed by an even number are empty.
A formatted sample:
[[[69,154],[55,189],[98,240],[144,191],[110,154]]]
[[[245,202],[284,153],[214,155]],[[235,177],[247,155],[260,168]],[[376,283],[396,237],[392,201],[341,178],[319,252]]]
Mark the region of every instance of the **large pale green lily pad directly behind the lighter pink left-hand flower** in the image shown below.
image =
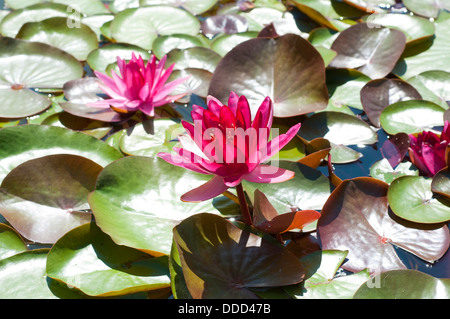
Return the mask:
[[[165,5],[126,9],[111,22],[111,36],[115,41],[147,50],[152,49],[153,41],[159,35],[196,35],[199,31],[200,22],[195,16],[183,9]]]

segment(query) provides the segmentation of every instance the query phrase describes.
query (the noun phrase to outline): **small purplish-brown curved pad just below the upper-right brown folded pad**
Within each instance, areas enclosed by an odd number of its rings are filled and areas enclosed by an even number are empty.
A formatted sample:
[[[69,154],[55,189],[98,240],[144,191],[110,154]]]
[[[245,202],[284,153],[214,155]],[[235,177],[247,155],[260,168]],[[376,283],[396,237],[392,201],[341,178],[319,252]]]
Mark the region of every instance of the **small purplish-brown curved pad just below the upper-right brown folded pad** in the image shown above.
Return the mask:
[[[405,81],[384,78],[366,83],[361,89],[360,99],[370,122],[380,127],[380,115],[387,106],[400,101],[421,100],[422,96]]]

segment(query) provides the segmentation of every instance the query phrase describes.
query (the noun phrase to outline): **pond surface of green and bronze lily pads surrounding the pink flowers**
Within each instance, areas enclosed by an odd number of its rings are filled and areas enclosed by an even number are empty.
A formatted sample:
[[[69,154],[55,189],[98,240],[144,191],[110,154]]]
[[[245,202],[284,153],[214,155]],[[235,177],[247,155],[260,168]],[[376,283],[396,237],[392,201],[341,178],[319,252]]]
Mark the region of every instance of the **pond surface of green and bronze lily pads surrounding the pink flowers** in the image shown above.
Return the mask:
[[[0,298],[450,296],[450,141],[432,176],[410,152],[450,121],[445,2],[0,4]],[[176,100],[93,108],[133,55],[187,77]],[[157,156],[230,92],[301,123],[271,158],[292,179],[242,181],[250,224],[233,187],[181,201],[210,176]]]

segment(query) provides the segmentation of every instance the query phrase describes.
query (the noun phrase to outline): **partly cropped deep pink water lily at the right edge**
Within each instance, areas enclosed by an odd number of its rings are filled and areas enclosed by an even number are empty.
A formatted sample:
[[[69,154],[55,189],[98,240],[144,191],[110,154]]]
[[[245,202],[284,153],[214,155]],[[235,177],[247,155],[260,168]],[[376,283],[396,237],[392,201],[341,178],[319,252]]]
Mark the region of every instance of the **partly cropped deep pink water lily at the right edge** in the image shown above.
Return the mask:
[[[447,166],[446,148],[450,144],[450,125],[445,121],[441,135],[424,131],[409,135],[409,157],[424,176],[432,177]]]

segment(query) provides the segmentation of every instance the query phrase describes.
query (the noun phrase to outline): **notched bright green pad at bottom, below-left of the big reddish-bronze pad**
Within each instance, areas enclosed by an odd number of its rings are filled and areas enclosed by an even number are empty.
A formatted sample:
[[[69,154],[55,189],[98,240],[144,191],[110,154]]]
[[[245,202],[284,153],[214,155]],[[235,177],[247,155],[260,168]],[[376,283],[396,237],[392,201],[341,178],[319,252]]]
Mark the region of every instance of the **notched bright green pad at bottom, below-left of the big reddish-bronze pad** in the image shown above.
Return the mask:
[[[347,256],[346,251],[317,251],[300,259],[305,267],[305,281],[285,287],[296,299],[351,299],[370,275],[367,270],[335,277]]]

